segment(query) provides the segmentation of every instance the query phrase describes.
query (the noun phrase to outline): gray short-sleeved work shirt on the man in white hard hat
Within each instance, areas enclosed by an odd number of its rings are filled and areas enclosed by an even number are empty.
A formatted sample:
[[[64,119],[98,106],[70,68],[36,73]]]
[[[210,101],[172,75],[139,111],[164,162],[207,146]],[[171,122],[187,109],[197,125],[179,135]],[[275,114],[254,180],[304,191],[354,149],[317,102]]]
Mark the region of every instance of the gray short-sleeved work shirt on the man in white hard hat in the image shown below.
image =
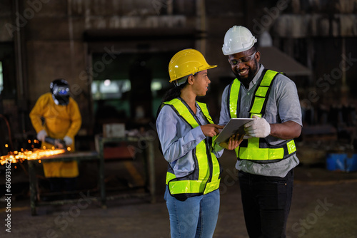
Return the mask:
[[[253,99],[256,87],[260,83],[263,65],[260,66],[258,73],[253,78],[251,83],[249,83],[249,88],[246,89],[241,83],[239,98],[239,112],[238,118],[248,118],[249,108],[251,106],[251,100]],[[222,103],[221,103],[221,115],[219,118],[219,125],[226,125],[230,120],[229,109],[227,108],[228,100],[228,88],[229,85],[223,90]],[[268,95],[268,100],[266,103],[266,112],[263,115],[268,123],[284,123],[286,121],[293,121],[299,125],[303,125],[301,121],[301,106],[298,100],[298,92],[296,90],[296,85],[286,76],[279,73],[274,79],[271,90]],[[275,138],[273,136],[268,136],[265,138],[271,145],[277,145],[282,143],[284,140]],[[236,162],[236,169],[243,172],[248,172],[254,175],[264,175],[264,176],[277,176],[285,177],[289,170],[298,165],[298,157],[291,155],[285,160],[279,162],[272,162],[267,164],[259,164],[256,162],[251,162],[249,160],[238,160]]]

